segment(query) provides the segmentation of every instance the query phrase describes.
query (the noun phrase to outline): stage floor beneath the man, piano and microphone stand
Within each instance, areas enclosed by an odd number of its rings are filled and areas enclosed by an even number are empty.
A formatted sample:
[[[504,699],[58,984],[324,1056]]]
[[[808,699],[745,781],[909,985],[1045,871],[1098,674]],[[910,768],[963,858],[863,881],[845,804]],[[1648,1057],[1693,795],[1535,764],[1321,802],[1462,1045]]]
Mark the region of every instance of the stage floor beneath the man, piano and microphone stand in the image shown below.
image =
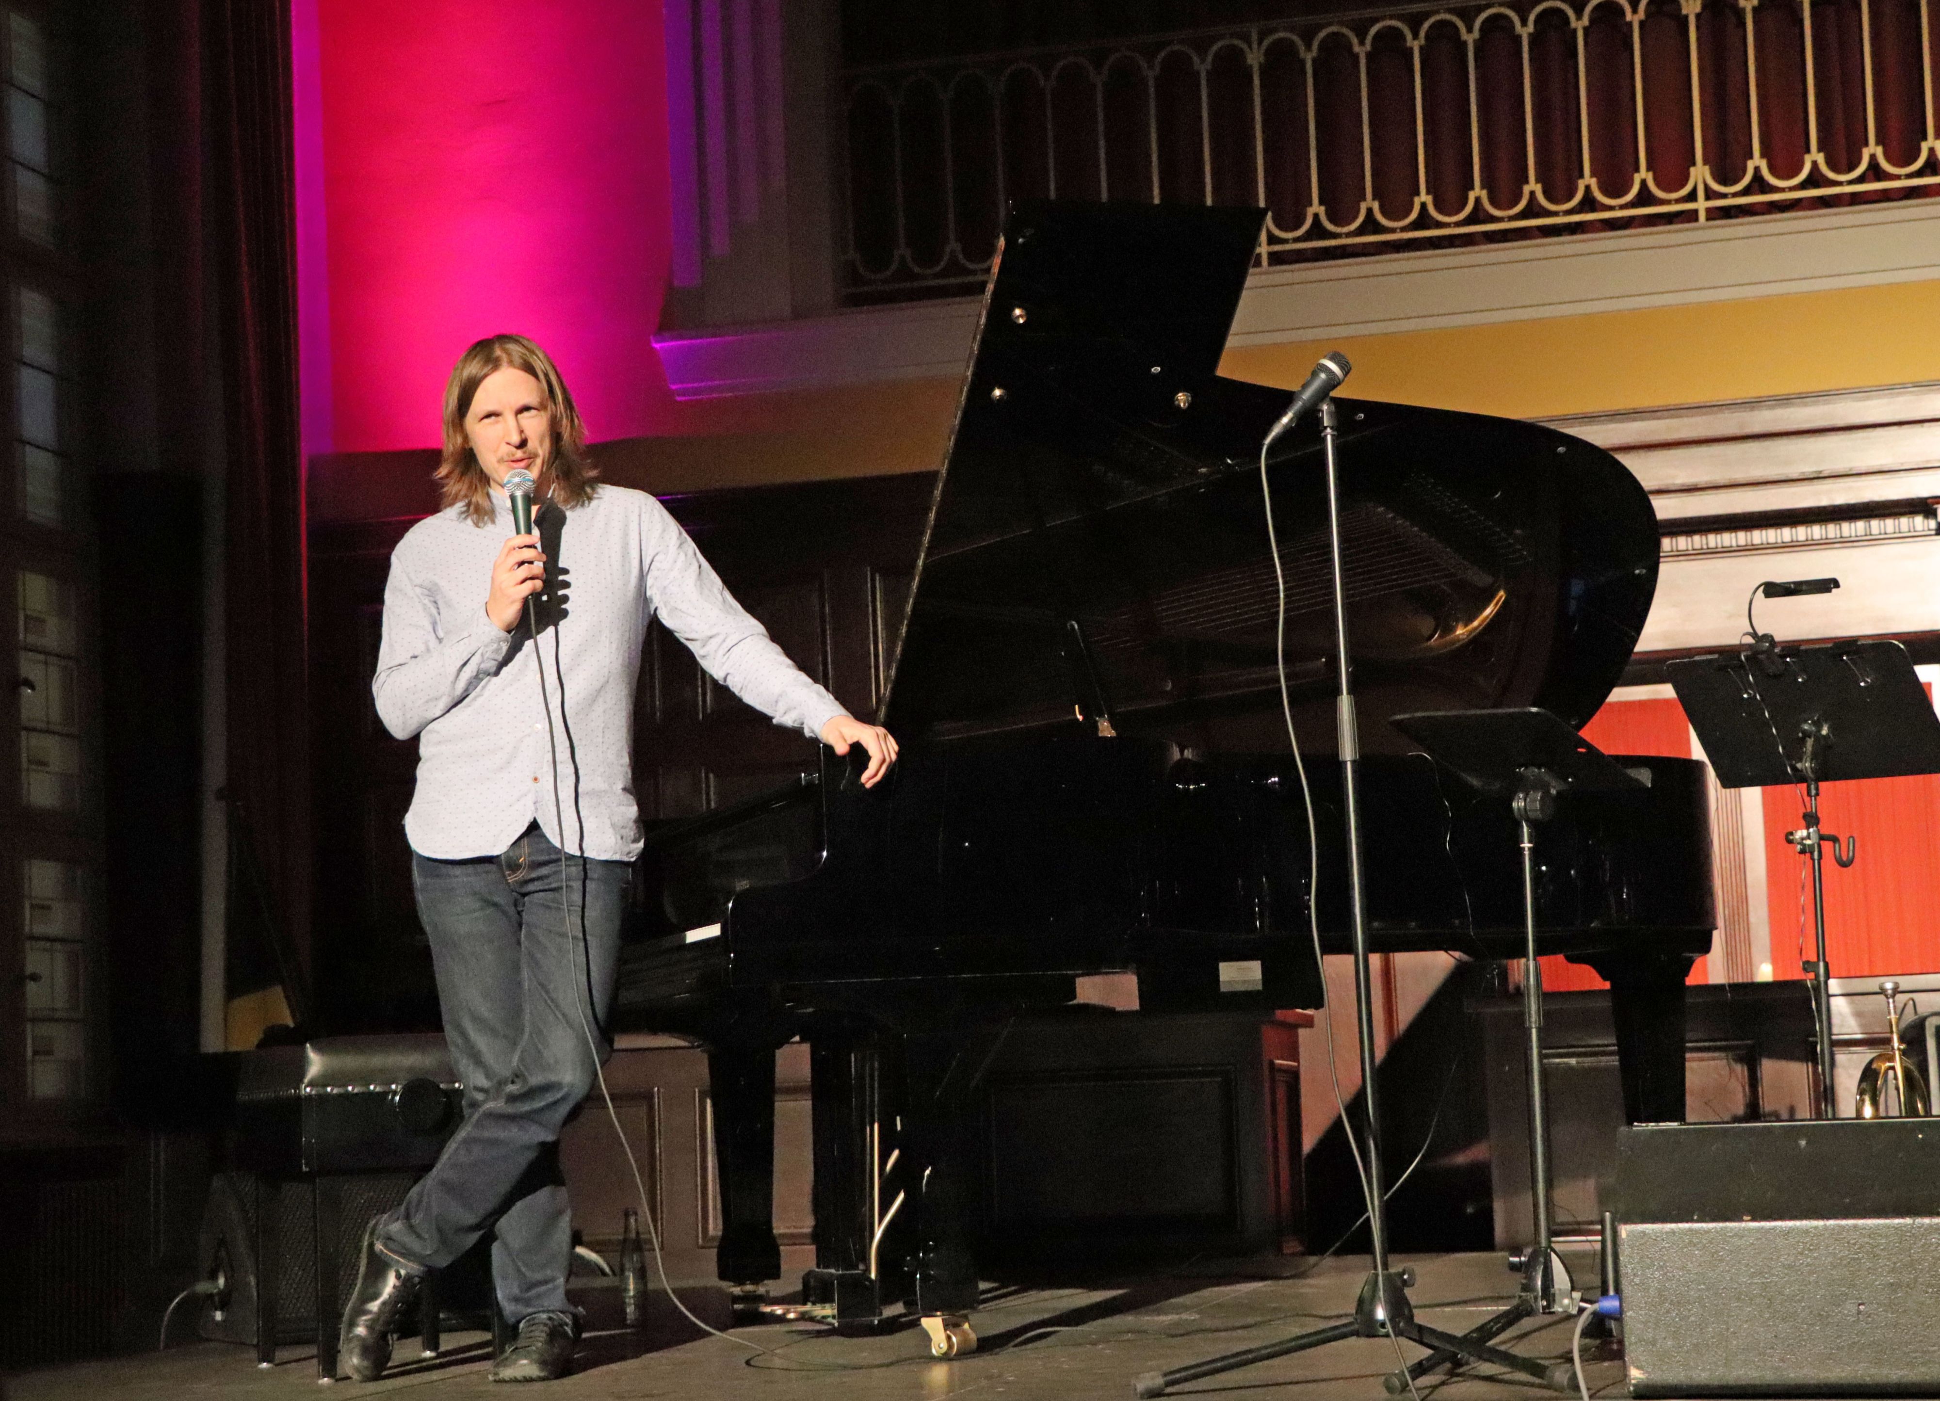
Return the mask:
[[[1420,1273],[1412,1296],[1426,1321],[1449,1331],[1472,1327],[1513,1296],[1515,1277],[1504,1257],[1410,1257]],[[1571,1261],[1573,1263],[1573,1261]],[[836,1339],[807,1325],[743,1329],[739,1337],[772,1349],[757,1354],[718,1337],[696,1335],[656,1290],[646,1333],[594,1329],[580,1345],[578,1372],[543,1387],[559,1401],[632,1401],[648,1397],[772,1397],[877,1401],[987,1395],[1005,1401],[1106,1397],[1131,1401],[1141,1372],[1166,1370],[1218,1352],[1257,1347],[1323,1325],[1352,1312],[1366,1259],[1329,1259],[1311,1273],[1302,1259],[1247,1261],[1212,1269],[1187,1267],[1098,1279],[1088,1287],[991,1287],[974,1316],[980,1351],[935,1362],[916,1327],[871,1339]],[[594,1308],[596,1321],[603,1308]],[[184,1329],[186,1331],[186,1329]],[[1527,1356],[1566,1358],[1569,1321],[1525,1323],[1505,1343]],[[1608,1345],[1585,1343],[1591,1393],[1622,1395],[1622,1364]],[[1418,1356],[1406,1349],[1408,1358]],[[301,1397],[316,1395],[310,1349],[287,1347],[274,1370],[258,1370],[246,1349],[184,1343],[167,1354],[114,1358],[8,1378],[6,1401],[130,1401],[142,1397]],[[487,1339],[460,1333],[433,1360],[417,1343],[400,1343],[398,1362],[359,1395],[409,1391],[413,1401],[506,1391],[485,1380]],[[1395,1347],[1354,1339],[1317,1352],[1180,1387],[1172,1395],[1288,1395],[1300,1401],[1385,1401],[1381,1378],[1395,1370]],[[1457,1380],[1422,1384],[1445,1401],[1531,1401],[1544,1391],[1525,1378],[1488,1368]]]

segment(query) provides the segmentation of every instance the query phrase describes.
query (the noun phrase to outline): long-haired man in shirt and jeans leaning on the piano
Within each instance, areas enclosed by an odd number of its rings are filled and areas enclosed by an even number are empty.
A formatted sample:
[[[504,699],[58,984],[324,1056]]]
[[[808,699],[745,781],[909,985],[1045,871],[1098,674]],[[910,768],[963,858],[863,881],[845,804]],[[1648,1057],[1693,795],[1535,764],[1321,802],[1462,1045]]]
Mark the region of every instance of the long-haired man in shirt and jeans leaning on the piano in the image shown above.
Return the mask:
[[[504,495],[516,470],[537,479],[524,536]],[[493,1287],[518,1325],[491,1378],[541,1382],[566,1372],[578,1333],[559,1129],[607,1054],[642,844],[632,700],[648,623],[776,724],[836,753],[859,743],[865,784],[896,743],[782,654],[658,501],[594,479],[572,396],[524,336],[460,357],[438,481],[444,508],[392,551],[371,691],[384,726],[419,741],[404,831],[464,1122],[365,1228],[341,1356],[359,1382],[380,1376],[425,1271],[491,1230]]]

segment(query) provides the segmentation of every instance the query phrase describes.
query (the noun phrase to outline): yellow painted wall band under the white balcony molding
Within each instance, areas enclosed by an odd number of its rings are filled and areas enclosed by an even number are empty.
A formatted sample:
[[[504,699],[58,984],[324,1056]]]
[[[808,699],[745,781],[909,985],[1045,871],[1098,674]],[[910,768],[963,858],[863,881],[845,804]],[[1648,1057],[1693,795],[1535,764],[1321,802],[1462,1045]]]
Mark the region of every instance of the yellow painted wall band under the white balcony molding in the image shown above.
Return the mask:
[[[1220,371],[1292,388],[1329,349],[1354,361],[1356,398],[1531,419],[1915,384],[1940,380],[1940,281],[1251,345]],[[687,437],[603,444],[607,475],[695,491],[931,472],[956,380],[689,407]]]

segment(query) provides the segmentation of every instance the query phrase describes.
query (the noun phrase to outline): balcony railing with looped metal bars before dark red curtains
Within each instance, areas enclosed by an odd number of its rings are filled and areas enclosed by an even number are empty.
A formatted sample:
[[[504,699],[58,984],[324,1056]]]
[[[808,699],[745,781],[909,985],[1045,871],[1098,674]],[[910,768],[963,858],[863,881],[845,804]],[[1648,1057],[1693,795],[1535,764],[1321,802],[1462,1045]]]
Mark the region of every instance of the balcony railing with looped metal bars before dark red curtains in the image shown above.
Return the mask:
[[[844,74],[852,303],[1020,196],[1249,204],[1259,264],[1932,194],[1940,0],[1414,6]]]

